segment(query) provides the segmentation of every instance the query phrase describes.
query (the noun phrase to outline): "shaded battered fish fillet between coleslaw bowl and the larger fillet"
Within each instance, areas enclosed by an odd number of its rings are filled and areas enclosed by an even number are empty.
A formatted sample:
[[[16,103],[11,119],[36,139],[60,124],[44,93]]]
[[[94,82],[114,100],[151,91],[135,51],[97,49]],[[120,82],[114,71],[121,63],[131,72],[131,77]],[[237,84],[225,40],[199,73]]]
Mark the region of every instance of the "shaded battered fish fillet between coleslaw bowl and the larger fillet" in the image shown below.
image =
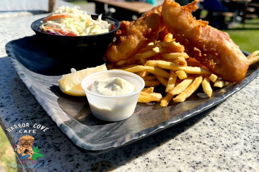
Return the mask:
[[[133,24],[128,24],[125,35],[120,36],[107,48],[106,58],[111,62],[127,60],[141,48],[156,40],[159,32],[164,29],[160,18],[161,10],[162,6],[157,6],[142,14]]]

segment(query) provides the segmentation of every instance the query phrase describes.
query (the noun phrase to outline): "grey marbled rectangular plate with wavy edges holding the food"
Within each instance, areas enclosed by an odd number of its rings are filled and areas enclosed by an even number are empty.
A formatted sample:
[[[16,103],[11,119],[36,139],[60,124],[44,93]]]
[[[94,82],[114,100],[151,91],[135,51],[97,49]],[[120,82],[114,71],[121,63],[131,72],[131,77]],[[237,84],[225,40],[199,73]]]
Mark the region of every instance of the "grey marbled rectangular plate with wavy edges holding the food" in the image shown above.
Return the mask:
[[[63,50],[53,48],[53,51]],[[259,74],[257,63],[249,67],[243,80],[215,89],[211,98],[200,88],[183,103],[171,101],[164,108],[157,102],[138,103],[130,118],[105,122],[91,114],[85,97],[73,97],[60,91],[58,80],[70,69],[64,69],[49,58],[35,36],[9,42],[6,52],[18,76],[42,108],[77,148],[89,154],[124,146],[197,115],[235,94]]]

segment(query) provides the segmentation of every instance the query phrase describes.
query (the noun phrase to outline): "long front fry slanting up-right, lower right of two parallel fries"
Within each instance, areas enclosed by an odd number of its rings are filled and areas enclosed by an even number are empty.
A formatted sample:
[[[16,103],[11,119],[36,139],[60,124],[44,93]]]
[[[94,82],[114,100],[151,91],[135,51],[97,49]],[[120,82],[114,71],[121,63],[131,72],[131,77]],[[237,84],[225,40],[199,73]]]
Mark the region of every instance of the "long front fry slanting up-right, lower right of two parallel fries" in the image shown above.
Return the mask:
[[[189,87],[187,87],[181,94],[176,96],[173,101],[176,103],[184,102],[188,97],[190,97],[190,95],[192,95],[192,93],[194,93],[199,88],[200,84],[203,81],[203,78],[204,75],[198,75],[193,83]]]

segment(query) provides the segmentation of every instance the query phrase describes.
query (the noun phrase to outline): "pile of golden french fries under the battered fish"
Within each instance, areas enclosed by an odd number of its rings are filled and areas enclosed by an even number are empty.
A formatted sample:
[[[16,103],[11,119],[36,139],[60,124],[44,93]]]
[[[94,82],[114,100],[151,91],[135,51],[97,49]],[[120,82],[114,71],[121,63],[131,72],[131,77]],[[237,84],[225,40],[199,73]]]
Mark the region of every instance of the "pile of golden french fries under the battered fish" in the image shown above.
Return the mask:
[[[247,56],[249,65],[259,61],[255,51]],[[228,82],[211,73],[204,65],[184,53],[184,46],[175,42],[172,34],[162,40],[149,43],[145,48],[128,60],[109,63],[108,70],[124,70],[136,73],[145,80],[145,87],[138,102],[160,102],[162,107],[173,100],[176,103],[185,101],[200,85],[204,93],[212,95],[212,86],[224,87]],[[154,93],[154,87],[164,85],[167,95]]]

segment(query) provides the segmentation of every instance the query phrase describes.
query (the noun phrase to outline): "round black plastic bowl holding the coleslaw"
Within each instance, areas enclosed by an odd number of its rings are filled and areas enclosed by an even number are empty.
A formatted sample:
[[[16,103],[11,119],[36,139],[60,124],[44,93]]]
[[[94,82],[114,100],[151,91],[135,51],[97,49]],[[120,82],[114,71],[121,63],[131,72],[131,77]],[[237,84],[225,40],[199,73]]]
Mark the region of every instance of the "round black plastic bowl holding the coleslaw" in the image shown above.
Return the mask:
[[[93,19],[98,15],[91,15]],[[104,63],[103,56],[108,45],[113,41],[120,23],[112,18],[102,16],[102,20],[115,26],[115,29],[98,35],[90,36],[62,36],[51,35],[40,31],[40,21],[31,24],[32,30],[36,33],[39,43],[44,48],[47,55],[59,63],[63,63],[66,68],[81,70],[96,67]]]

